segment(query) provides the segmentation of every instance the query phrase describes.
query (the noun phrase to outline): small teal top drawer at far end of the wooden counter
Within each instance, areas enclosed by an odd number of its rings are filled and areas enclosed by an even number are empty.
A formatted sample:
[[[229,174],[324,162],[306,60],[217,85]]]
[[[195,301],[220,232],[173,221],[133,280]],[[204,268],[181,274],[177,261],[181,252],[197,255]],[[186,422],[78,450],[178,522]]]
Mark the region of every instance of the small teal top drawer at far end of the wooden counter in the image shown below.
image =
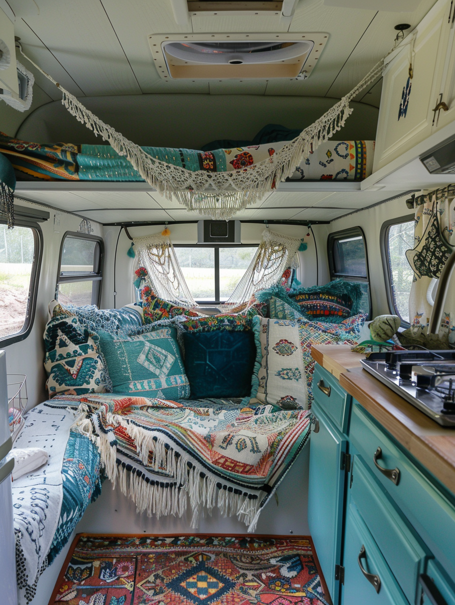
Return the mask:
[[[335,422],[335,425],[346,433],[350,395],[340,387],[337,379],[320,365],[315,366],[312,388],[315,401]]]

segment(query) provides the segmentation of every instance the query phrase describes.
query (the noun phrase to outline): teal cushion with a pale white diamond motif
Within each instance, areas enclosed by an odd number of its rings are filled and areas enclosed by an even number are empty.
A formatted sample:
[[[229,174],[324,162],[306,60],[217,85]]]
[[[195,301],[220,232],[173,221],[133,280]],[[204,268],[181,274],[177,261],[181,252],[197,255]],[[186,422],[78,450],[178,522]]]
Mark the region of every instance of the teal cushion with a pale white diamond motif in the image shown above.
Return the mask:
[[[188,399],[190,388],[174,327],[129,337],[99,332],[113,393]]]

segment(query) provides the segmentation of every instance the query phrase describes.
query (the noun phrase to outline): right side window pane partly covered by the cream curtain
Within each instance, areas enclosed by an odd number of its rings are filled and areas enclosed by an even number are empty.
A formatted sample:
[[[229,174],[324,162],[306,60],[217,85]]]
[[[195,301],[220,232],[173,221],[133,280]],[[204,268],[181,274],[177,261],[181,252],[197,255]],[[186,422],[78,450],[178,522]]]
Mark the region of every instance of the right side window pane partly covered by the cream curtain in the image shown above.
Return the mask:
[[[414,217],[386,221],[381,227],[381,253],[387,300],[392,313],[409,324],[409,295],[413,270],[405,256],[414,247]]]

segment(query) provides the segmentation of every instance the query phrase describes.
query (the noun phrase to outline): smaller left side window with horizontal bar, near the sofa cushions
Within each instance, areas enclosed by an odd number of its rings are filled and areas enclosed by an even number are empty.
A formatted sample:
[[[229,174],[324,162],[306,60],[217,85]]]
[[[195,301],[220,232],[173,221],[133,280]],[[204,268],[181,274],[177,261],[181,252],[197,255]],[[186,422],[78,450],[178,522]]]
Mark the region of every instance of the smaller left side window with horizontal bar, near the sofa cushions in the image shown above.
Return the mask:
[[[60,247],[56,299],[78,307],[100,303],[104,245],[100,237],[67,231]]]

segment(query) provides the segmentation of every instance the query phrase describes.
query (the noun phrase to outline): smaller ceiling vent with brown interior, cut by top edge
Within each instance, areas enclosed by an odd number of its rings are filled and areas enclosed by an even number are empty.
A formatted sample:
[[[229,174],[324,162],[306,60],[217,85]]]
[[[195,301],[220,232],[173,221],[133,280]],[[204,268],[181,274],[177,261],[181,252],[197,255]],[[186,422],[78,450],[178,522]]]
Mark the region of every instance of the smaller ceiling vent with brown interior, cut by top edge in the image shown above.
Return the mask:
[[[292,19],[298,0],[170,0],[175,21],[187,25],[193,16],[277,16]]]

